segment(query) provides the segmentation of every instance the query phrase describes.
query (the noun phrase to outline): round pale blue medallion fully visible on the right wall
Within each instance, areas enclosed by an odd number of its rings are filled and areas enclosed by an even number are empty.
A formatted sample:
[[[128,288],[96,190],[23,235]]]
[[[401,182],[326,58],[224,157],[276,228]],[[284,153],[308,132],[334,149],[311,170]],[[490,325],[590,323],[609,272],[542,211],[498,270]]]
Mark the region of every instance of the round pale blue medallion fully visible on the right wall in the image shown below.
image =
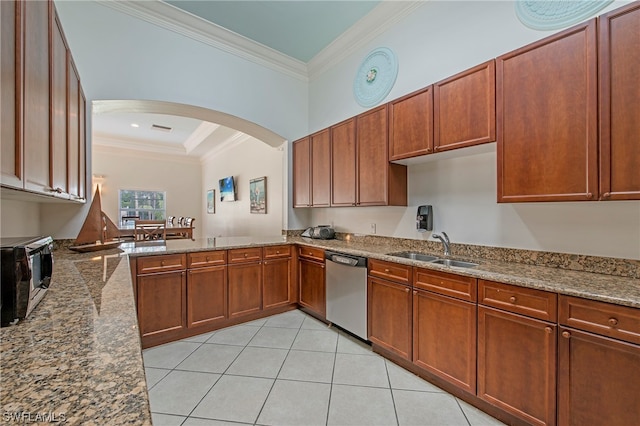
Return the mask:
[[[391,49],[380,47],[362,61],[353,81],[353,95],[363,107],[382,101],[391,91],[398,75],[398,61]]]

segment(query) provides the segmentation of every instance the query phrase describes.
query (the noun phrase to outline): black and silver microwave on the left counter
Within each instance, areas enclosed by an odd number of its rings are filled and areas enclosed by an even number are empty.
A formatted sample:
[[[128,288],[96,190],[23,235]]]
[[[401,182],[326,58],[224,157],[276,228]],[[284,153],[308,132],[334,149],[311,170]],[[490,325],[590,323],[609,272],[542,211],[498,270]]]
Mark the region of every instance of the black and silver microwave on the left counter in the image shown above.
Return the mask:
[[[53,272],[53,239],[2,238],[0,251],[0,317],[5,327],[28,317],[47,292]]]

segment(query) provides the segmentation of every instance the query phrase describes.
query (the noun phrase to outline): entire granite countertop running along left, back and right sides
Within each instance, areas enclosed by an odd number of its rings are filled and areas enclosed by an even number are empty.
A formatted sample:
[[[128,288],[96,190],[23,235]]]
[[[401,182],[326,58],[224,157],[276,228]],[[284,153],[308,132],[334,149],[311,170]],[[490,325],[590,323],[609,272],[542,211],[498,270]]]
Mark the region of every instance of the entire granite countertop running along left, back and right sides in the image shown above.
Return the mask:
[[[448,268],[389,256],[407,247],[384,238],[375,243],[291,236],[204,238],[125,243],[121,249],[84,254],[60,248],[45,298],[28,319],[0,329],[2,422],[100,425],[108,419],[110,425],[150,425],[129,258],[277,244],[333,249],[640,308],[638,278],[487,259],[467,259],[479,263],[473,269]]]

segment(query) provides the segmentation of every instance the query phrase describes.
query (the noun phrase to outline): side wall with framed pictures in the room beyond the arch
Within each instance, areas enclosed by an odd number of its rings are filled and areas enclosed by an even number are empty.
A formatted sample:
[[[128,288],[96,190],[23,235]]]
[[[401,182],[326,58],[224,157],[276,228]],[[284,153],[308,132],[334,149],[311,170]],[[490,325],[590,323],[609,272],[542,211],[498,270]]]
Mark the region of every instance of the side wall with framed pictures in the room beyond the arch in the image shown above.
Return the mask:
[[[282,190],[285,155],[282,148],[272,148],[250,138],[205,160],[202,164],[201,198],[204,199],[207,190],[215,189],[216,200],[214,214],[207,214],[206,204],[202,207],[203,235],[280,235],[283,229],[283,199],[286,200],[286,192]],[[218,180],[226,176],[235,178],[238,201],[220,201]],[[262,176],[267,177],[267,213],[252,214],[249,212],[249,181]]]

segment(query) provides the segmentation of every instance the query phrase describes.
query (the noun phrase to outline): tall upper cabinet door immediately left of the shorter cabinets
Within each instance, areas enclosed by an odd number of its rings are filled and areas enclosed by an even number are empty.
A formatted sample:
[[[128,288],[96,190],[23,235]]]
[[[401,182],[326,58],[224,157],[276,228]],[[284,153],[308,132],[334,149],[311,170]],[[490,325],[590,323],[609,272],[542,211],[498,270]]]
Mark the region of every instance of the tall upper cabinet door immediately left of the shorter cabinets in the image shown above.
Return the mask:
[[[388,129],[387,106],[357,117],[358,205],[387,204]]]

